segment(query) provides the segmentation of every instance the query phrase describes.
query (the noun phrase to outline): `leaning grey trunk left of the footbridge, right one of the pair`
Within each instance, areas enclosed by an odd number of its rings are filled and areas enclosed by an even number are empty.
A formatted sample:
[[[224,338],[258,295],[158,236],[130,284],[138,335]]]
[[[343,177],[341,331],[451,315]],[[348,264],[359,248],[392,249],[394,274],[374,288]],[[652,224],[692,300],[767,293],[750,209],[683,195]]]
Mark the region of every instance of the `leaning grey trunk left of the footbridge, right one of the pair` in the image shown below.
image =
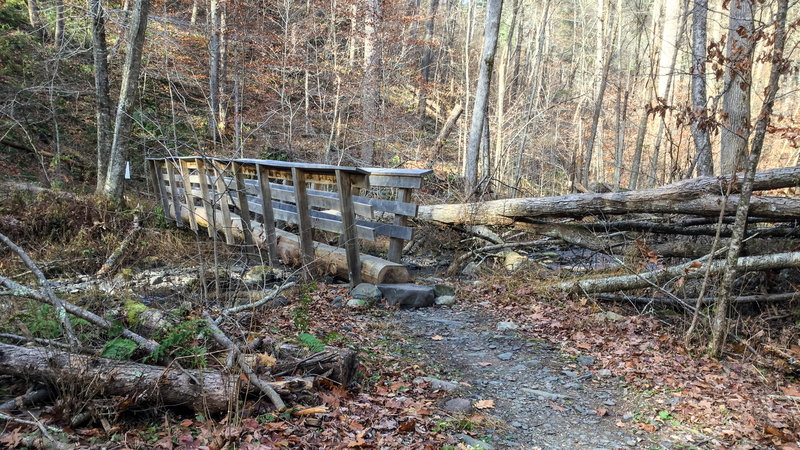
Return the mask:
[[[150,0],[136,0],[132,20],[126,37],[127,51],[125,65],[122,68],[122,85],[120,86],[117,116],[114,123],[114,140],[111,143],[111,154],[108,160],[108,172],[103,193],[114,200],[122,199],[123,172],[130,140],[131,113],[136,92],[139,86],[139,72],[142,64],[144,35],[147,29],[147,16],[150,11]]]

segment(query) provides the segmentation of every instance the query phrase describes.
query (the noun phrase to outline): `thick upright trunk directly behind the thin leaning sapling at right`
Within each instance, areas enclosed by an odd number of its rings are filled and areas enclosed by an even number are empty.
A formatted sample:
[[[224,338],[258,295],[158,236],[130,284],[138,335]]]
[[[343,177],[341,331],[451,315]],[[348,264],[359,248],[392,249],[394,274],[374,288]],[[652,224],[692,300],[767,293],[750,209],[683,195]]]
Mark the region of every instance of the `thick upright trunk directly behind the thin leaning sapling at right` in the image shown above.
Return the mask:
[[[750,85],[753,69],[752,0],[730,2],[727,70],[722,97],[723,115],[720,138],[721,173],[733,173],[745,166],[750,139]]]

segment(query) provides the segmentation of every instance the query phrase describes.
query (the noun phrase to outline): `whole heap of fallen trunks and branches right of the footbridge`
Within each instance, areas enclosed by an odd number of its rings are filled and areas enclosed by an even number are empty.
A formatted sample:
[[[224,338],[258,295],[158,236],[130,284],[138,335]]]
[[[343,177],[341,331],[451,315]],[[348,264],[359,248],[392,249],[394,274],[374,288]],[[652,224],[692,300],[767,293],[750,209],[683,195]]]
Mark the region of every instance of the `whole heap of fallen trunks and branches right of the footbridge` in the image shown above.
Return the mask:
[[[628,269],[627,275],[550,286],[557,290],[594,294],[647,287],[663,289],[662,285],[669,280],[681,279],[683,285],[683,281],[702,278],[706,272],[710,275],[721,272],[724,264],[707,255],[724,245],[724,240],[718,239],[731,236],[730,224],[739,202],[741,180],[742,174],[734,174],[698,177],[638,191],[424,205],[419,207],[418,218],[456,229],[511,226],[562,244],[611,255],[618,266]],[[800,167],[757,172],[753,185],[760,192],[751,199],[748,239],[737,269],[746,272],[800,266],[797,253],[800,230],[796,227],[796,221],[800,220],[800,199],[777,191],[800,186]],[[613,216],[623,217],[614,220]],[[552,242],[538,240],[521,245],[491,241],[461,255],[451,269],[472,255],[552,246]],[[631,255],[640,262],[627,264]],[[631,269],[646,267],[642,262],[658,262],[660,266],[664,258],[695,261],[664,268],[651,265],[649,271],[642,273],[638,273],[641,269]]]

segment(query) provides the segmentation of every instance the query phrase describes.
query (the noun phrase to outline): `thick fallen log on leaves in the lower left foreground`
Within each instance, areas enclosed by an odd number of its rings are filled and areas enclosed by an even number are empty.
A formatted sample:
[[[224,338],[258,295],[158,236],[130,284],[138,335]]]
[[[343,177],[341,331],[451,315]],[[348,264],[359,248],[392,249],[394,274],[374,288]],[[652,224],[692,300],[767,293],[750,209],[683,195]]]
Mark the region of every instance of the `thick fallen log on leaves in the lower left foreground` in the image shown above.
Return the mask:
[[[238,371],[178,369],[171,365],[154,366],[53,348],[0,343],[0,374],[54,385],[68,382],[87,386],[95,389],[90,392],[95,396],[124,396],[123,402],[126,405],[129,403],[128,406],[185,406],[210,413],[226,411],[239,393],[251,392],[255,387],[272,389],[281,397],[291,399],[307,394],[318,377],[325,377],[345,387],[352,383],[358,368],[355,352],[325,347],[325,351],[302,357],[305,353],[309,352],[284,344],[275,355],[277,361],[269,367],[256,366],[258,358],[242,355],[251,358],[248,361],[253,361],[245,364],[255,366],[251,367],[250,378],[256,383],[241,386]],[[271,375],[283,369],[286,369],[287,376],[278,381],[267,382],[254,375],[255,372]],[[307,376],[288,376],[297,372]]]

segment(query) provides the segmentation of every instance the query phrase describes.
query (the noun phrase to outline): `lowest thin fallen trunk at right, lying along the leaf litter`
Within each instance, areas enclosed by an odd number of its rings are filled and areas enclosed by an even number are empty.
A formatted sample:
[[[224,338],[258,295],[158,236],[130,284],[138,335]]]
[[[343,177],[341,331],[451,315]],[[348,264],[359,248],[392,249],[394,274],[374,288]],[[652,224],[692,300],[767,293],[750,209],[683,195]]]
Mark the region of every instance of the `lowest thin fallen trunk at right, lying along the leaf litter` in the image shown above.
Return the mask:
[[[776,253],[763,256],[746,256],[737,260],[736,268],[740,272],[756,270],[782,269],[800,267],[800,252]],[[600,292],[624,291],[640,289],[684,277],[686,279],[701,278],[708,268],[707,262],[690,261],[675,267],[654,270],[652,272],[623,275],[609,278],[593,278],[566,281],[552,285],[553,288],[568,293],[594,294]],[[725,261],[711,263],[711,274],[716,275],[725,269]]]

